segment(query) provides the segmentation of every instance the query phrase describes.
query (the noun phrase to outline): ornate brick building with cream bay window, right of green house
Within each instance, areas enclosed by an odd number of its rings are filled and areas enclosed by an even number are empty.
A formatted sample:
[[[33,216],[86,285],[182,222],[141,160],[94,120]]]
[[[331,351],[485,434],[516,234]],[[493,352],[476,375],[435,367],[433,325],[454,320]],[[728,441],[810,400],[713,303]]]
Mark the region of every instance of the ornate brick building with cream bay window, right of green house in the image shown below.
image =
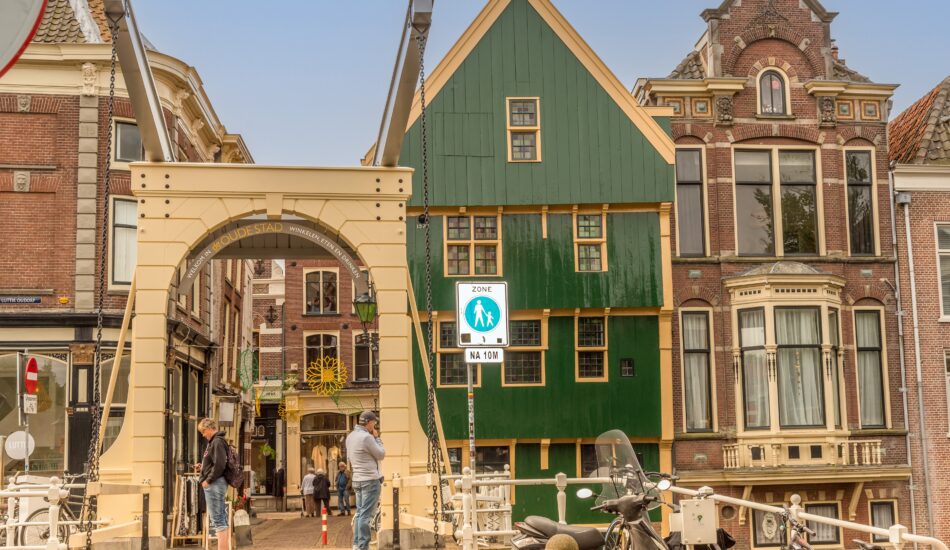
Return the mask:
[[[666,78],[671,108],[674,463],[681,483],[910,524],[887,185],[889,97],[817,0],[726,0]],[[932,229],[931,229],[932,231]],[[741,548],[773,515],[723,506]],[[812,526],[814,545],[858,533]]]

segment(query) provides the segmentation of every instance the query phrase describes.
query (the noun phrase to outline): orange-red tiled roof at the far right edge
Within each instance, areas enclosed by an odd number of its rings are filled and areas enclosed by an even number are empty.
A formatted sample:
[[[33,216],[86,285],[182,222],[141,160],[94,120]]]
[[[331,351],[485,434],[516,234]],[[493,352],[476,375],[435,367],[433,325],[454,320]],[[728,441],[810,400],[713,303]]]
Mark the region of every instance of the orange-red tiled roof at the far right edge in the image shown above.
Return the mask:
[[[898,164],[950,164],[950,76],[888,125],[889,157]]]

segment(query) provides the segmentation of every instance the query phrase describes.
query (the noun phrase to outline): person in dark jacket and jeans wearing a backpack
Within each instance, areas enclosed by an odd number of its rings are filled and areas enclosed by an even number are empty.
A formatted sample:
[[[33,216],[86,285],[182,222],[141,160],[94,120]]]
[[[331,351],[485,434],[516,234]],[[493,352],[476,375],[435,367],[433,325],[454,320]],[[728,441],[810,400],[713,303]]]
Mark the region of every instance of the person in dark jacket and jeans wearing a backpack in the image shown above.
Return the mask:
[[[202,419],[198,423],[198,432],[208,440],[208,447],[201,459],[201,475],[198,477],[208,507],[208,530],[217,535],[218,550],[229,550],[231,531],[228,528],[228,508],[224,502],[228,480],[224,477],[224,469],[231,451],[224,432],[218,431],[218,424],[214,420]]]

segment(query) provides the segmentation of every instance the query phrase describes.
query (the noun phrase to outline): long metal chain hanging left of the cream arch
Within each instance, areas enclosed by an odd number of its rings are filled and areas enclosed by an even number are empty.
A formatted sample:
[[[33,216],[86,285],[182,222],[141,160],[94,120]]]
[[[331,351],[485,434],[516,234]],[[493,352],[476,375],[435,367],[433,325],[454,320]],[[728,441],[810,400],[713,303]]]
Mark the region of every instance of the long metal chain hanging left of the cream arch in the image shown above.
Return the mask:
[[[119,20],[109,18],[109,30],[112,39],[112,59],[109,67],[109,114],[106,127],[106,158],[105,171],[103,174],[103,195],[102,195],[102,231],[99,235],[99,287],[96,297],[96,349],[94,355],[95,364],[93,365],[92,375],[92,404],[90,414],[92,416],[92,429],[90,430],[91,440],[89,442],[89,454],[86,461],[86,495],[83,506],[83,515],[86,529],[86,550],[92,550],[92,531],[93,521],[96,518],[98,508],[97,496],[89,495],[89,482],[99,480],[99,453],[102,449],[102,442],[99,441],[99,432],[102,426],[102,325],[103,310],[105,309],[106,296],[106,258],[109,253],[109,186],[112,183],[112,121],[115,115],[115,72],[118,51],[116,42],[119,39]],[[129,296],[131,300],[132,297]],[[116,350],[113,358],[113,368],[118,368],[118,363],[122,360],[122,350]]]

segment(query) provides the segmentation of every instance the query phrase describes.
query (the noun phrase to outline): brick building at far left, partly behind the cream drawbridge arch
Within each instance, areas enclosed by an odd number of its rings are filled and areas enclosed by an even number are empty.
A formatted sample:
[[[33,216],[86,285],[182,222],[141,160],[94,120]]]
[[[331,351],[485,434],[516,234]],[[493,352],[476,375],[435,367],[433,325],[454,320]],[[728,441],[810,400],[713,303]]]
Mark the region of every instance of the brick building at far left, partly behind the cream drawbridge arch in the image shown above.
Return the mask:
[[[17,354],[34,356],[40,367],[39,412],[31,423],[44,426],[34,431],[31,469],[38,473],[85,470],[96,304],[102,296],[107,380],[136,270],[138,205],[129,163],[142,160],[142,143],[121,71],[109,124],[106,25],[101,1],[50,0],[33,42],[0,79],[0,433],[19,429]],[[216,118],[195,69],[154,48],[148,57],[177,159],[251,162],[241,136],[228,133]],[[112,171],[108,218],[107,167]],[[176,472],[200,457],[199,417],[224,420],[235,441],[242,420],[252,420],[237,368],[251,334],[243,264],[214,262],[189,296],[177,292],[178,279],[170,281],[167,332],[173,343],[167,350],[161,427],[166,499]],[[126,373],[129,364],[126,356],[121,362]],[[128,374],[120,376],[102,458],[110,479],[130,472],[131,443],[122,430],[128,388]],[[4,465],[4,477],[23,468],[22,461]]]

